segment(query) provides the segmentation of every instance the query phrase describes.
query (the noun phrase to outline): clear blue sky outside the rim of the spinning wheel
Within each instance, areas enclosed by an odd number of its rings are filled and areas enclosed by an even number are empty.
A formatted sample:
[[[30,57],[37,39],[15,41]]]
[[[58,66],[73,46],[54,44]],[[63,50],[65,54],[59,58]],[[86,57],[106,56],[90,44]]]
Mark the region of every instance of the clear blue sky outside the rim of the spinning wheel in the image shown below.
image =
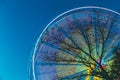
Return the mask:
[[[30,55],[45,26],[83,6],[120,11],[119,0],[0,0],[0,80],[28,80]]]

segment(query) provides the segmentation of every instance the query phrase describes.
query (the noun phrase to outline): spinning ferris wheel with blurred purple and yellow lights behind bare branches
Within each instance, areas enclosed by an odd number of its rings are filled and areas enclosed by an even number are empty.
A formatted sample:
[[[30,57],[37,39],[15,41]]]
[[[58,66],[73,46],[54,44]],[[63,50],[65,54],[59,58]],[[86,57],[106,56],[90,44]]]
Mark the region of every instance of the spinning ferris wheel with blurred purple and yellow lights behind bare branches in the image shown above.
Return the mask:
[[[52,20],[38,38],[30,80],[120,79],[120,14],[80,7]]]

